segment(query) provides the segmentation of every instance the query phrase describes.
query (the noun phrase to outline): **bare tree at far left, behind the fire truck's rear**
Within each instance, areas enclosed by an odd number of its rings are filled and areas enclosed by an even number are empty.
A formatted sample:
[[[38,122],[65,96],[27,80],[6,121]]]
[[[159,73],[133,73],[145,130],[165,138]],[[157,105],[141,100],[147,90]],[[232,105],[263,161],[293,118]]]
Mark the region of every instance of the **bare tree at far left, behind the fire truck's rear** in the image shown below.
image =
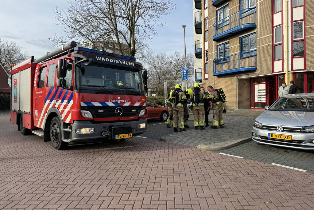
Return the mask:
[[[10,64],[18,64],[28,57],[28,53],[22,52],[21,49],[14,41],[0,38],[0,61],[8,72],[10,71]]]

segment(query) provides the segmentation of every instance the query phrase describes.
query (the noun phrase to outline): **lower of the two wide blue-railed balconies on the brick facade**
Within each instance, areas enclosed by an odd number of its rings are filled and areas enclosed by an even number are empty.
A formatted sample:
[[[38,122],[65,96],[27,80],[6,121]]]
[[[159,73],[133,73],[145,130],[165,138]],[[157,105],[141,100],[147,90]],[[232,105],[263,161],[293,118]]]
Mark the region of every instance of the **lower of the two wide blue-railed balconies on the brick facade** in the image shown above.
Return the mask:
[[[213,61],[213,75],[256,71],[256,52],[242,52]]]

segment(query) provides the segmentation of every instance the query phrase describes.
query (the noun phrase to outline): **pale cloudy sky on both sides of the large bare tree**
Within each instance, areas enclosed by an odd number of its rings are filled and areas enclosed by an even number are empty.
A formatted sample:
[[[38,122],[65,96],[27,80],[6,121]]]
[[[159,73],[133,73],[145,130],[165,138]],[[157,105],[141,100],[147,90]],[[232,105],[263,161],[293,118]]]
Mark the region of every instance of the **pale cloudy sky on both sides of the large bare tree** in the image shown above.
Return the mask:
[[[171,10],[160,20],[166,25],[155,26],[158,36],[147,41],[149,47],[155,52],[174,53],[184,52],[183,28],[186,25],[187,53],[193,52],[193,3],[192,0],[174,0],[176,9]],[[61,25],[56,25],[54,8],[66,8],[65,0],[10,0],[1,1],[4,8],[0,13],[0,38],[15,41],[24,52],[35,58],[52,47],[49,37],[62,34]]]

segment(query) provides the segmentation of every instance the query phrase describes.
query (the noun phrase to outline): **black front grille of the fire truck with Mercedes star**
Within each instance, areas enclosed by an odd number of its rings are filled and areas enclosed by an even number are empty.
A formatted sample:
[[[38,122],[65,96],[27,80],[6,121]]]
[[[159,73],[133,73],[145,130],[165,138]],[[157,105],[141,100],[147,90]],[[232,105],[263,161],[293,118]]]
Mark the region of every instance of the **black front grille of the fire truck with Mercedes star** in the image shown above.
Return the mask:
[[[105,118],[105,117],[134,117],[138,116],[142,109],[145,107],[120,107],[122,108],[122,114],[116,114],[116,108],[118,107],[81,107],[81,110],[86,110],[92,113],[93,118]],[[118,112],[118,114],[120,114]]]

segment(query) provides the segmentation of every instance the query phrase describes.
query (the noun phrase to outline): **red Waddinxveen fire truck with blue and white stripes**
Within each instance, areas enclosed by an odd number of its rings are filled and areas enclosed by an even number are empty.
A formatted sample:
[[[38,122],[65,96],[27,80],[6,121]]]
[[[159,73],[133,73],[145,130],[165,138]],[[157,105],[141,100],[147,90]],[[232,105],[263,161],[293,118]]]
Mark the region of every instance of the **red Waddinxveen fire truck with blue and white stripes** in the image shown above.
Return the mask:
[[[72,41],[11,69],[11,119],[57,149],[146,131],[147,71],[135,58]]]

